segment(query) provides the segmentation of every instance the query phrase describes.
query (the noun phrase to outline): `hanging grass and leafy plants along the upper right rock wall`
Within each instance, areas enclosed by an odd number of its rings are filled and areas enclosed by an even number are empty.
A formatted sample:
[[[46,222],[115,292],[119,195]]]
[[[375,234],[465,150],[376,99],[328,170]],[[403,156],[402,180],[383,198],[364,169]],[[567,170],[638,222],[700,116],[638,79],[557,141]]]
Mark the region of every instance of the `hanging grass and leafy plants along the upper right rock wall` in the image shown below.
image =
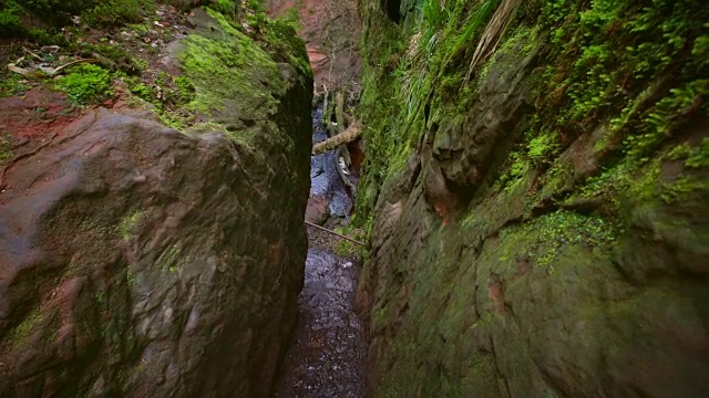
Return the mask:
[[[524,83],[536,95],[535,111],[497,169],[497,189],[517,181],[523,170],[536,170],[544,200],[566,199],[583,180],[558,157],[594,130],[600,133],[592,135],[593,156],[608,184],[588,176],[593,195],[628,189],[645,174],[640,169],[646,163],[659,161],[659,151],[699,144],[678,142],[672,132],[707,114],[709,81],[701,76],[709,75],[709,11],[701,1],[522,4],[505,25],[497,51],[467,81],[477,40],[500,4],[456,1],[441,7],[427,0],[397,24],[377,4],[363,2],[370,22],[362,39],[368,61],[360,106],[368,126],[362,185],[370,188],[360,190],[360,213],[371,214],[378,191],[372,186],[403,168],[428,126],[464,121],[490,71],[518,60],[505,54],[525,54],[537,45],[537,70]],[[659,197],[661,188],[651,189]]]

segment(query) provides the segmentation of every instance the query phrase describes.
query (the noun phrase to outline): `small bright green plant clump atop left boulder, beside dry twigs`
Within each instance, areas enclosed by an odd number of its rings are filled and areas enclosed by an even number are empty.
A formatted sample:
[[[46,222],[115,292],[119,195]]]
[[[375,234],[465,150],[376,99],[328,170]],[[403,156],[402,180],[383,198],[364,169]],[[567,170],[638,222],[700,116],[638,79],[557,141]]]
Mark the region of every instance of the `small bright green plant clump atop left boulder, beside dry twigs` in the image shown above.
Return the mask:
[[[100,103],[112,95],[111,74],[93,64],[72,66],[54,86],[78,105]]]

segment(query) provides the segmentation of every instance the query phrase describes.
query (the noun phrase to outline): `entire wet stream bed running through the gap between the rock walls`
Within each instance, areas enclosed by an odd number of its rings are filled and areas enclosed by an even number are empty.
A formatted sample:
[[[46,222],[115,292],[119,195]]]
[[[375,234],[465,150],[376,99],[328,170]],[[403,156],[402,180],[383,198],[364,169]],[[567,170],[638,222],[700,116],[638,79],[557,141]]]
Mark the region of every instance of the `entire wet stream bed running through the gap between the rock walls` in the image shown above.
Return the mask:
[[[314,142],[327,138],[322,107],[314,109]],[[351,208],[336,169],[335,153],[311,159],[310,196],[326,197],[330,214]],[[322,232],[309,228],[310,248],[305,283],[298,296],[298,323],[281,370],[277,398],[364,397],[367,345],[363,325],[353,311],[358,264],[323,245]]]

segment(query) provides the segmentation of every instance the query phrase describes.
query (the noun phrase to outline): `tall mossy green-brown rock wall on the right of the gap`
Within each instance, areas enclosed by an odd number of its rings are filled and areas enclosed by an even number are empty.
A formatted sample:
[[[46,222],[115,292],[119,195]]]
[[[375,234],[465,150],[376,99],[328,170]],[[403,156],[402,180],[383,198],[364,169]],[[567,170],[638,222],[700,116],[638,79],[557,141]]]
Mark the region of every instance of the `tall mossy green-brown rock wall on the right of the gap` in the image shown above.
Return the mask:
[[[521,7],[466,80],[475,45],[456,48],[455,32],[475,32],[467,12],[483,10],[453,8],[442,25],[409,15],[422,27],[410,38],[362,3],[377,43],[364,179],[381,184],[360,197],[374,203],[358,293],[372,395],[707,396],[709,64],[692,61],[709,51],[706,12]],[[649,44],[661,39],[634,30],[641,18],[681,27],[684,50]],[[382,70],[392,62],[401,78]],[[391,96],[408,105],[393,116]]]

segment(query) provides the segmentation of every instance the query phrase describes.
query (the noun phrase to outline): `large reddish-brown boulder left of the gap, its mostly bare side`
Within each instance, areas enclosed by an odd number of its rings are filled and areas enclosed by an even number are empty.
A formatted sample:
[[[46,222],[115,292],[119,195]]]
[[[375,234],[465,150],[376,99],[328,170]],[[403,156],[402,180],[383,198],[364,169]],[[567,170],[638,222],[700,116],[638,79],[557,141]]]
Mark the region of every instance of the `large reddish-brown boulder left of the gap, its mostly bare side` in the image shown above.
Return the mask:
[[[210,93],[268,98],[219,113],[228,132],[0,100],[0,396],[269,394],[302,285],[311,77],[267,66],[260,92]]]

